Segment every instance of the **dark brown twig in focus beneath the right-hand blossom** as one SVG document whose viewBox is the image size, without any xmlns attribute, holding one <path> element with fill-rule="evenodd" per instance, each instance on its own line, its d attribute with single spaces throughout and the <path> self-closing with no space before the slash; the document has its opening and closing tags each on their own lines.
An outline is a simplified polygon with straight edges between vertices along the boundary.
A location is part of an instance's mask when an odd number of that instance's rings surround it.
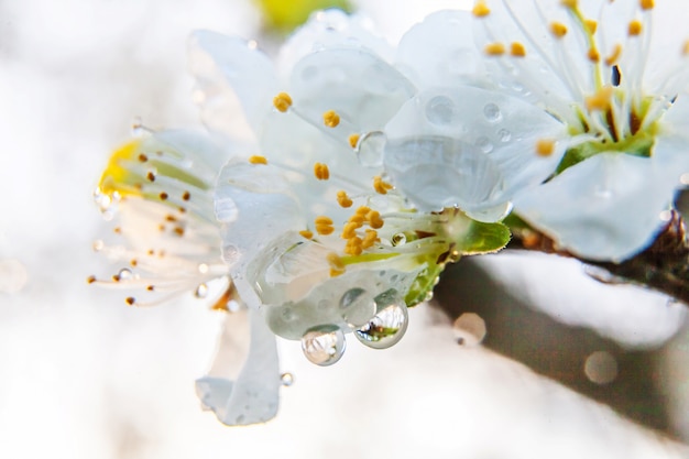
<svg viewBox="0 0 689 459">
<path fill-rule="evenodd" d="M 508 249 L 536 250 L 577 258 L 558 250 L 547 236 L 531 228 L 513 227 Z M 620 263 L 579 259 L 605 270 L 611 280 L 630 282 L 672 296 L 689 305 L 689 238 L 681 215 L 672 210 L 670 220 L 656 240 L 643 252 Z M 601 280 L 599 276 L 594 276 Z"/>
</svg>

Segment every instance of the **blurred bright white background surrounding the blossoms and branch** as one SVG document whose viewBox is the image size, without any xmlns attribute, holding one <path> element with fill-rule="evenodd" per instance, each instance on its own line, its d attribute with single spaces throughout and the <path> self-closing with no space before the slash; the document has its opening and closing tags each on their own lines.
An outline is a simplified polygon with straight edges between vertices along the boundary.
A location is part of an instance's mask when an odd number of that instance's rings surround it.
<svg viewBox="0 0 689 459">
<path fill-rule="evenodd" d="M 395 41 L 425 12 L 467 2 L 417 3 L 361 7 Z M 194 380 L 210 363 L 220 317 L 190 295 L 135 309 L 88 286 L 89 274 L 109 271 L 90 250 L 109 231 L 91 192 L 134 117 L 198 125 L 192 30 L 255 37 L 259 25 L 242 0 L 0 0 L 0 457 L 689 457 L 520 363 L 457 346 L 450 321 L 426 306 L 393 349 L 351 340 L 331 368 L 283 342 L 295 383 L 266 425 L 227 428 L 200 411 Z M 544 282 L 550 265 L 505 260 L 485 264 L 511 288 L 535 285 L 527 302 L 621 342 L 660 346 L 683 323 L 683 307 L 635 289 L 611 295 L 579 266 L 564 267 L 581 281 L 561 289 Z M 668 349 L 669 368 L 686 368 L 687 345 Z M 689 436 L 688 375 L 668 374 L 676 429 L 683 422 Z"/>
</svg>

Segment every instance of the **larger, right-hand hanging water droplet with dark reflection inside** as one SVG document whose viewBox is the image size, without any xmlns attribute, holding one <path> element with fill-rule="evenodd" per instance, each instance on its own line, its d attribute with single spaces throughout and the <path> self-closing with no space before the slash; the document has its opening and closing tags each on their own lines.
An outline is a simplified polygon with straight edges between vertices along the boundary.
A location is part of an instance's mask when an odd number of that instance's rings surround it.
<svg viewBox="0 0 689 459">
<path fill-rule="evenodd" d="M 404 336 L 408 325 L 408 313 L 404 299 L 396 291 L 375 297 L 378 314 L 367 325 L 354 331 L 354 336 L 373 349 L 387 349 Z"/>
</svg>

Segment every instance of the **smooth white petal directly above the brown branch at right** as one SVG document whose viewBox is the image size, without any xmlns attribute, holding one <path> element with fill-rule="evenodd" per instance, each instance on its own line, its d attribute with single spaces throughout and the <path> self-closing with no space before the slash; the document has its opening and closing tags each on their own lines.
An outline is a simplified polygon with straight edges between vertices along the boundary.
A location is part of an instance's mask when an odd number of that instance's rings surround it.
<svg viewBox="0 0 689 459">
<path fill-rule="evenodd" d="M 576 255 L 623 261 L 653 241 L 674 187 L 652 159 L 602 153 L 518 195 L 515 211 Z"/>
</svg>

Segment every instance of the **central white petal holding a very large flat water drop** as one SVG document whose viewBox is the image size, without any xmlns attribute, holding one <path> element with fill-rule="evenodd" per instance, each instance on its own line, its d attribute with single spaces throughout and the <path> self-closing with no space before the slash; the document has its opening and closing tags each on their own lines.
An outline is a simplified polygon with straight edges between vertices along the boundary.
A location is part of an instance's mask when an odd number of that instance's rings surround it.
<svg viewBox="0 0 689 459">
<path fill-rule="evenodd" d="M 459 205 L 481 220 L 500 218 L 481 212 L 504 210 L 514 193 L 543 182 L 566 147 L 565 127 L 548 113 L 468 86 L 419 94 L 385 132 L 385 171 L 415 206 Z M 547 156 L 537 154 L 544 141 L 553 146 Z"/>
</svg>

